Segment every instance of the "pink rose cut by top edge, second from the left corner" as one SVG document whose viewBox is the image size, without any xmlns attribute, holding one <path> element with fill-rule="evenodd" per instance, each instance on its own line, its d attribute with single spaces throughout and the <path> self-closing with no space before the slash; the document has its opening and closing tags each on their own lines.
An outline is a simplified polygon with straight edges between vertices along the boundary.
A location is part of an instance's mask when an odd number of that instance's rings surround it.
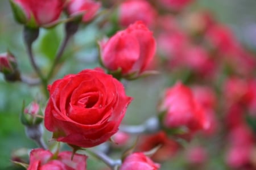
<svg viewBox="0 0 256 170">
<path fill-rule="evenodd" d="M 100 2 L 93 0 L 71 0 L 67 5 L 68 15 L 76 15 L 84 12 L 82 22 L 89 22 L 97 14 L 101 7 Z"/>
</svg>

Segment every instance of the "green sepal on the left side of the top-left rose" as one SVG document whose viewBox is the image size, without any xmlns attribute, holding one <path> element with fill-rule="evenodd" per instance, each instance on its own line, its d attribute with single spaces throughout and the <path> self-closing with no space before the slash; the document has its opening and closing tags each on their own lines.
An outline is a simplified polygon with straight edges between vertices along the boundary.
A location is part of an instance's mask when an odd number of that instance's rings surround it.
<svg viewBox="0 0 256 170">
<path fill-rule="evenodd" d="M 27 22 L 27 16 L 22 7 L 16 4 L 13 0 L 10 0 L 11 9 L 13 10 L 14 18 L 17 22 L 25 24 Z"/>
</svg>

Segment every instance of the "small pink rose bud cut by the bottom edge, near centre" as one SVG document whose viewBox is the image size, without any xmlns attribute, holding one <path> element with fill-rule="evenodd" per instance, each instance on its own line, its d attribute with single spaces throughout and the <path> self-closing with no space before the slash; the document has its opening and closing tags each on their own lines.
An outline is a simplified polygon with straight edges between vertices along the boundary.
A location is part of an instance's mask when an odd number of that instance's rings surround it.
<svg viewBox="0 0 256 170">
<path fill-rule="evenodd" d="M 157 170 L 160 165 L 152 162 L 142 152 L 133 153 L 125 158 L 119 170 L 152 169 Z"/>
</svg>

